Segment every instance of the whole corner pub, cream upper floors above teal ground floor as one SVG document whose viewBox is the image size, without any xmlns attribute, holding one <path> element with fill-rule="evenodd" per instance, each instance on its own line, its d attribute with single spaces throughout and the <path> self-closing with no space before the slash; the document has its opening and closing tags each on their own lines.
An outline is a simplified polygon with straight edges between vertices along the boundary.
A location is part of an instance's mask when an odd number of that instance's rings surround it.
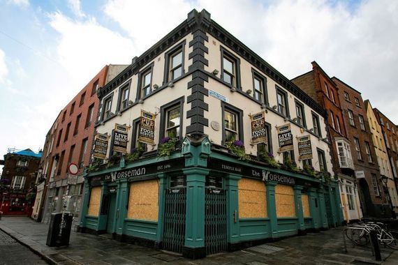
<svg viewBox="0 0 398 265">
<path fill-rule="evenodd" d="M 343 221 L 325 110 L 206 10 L 98 98 L 81 232 L 199 258 Z"/>
</svg>

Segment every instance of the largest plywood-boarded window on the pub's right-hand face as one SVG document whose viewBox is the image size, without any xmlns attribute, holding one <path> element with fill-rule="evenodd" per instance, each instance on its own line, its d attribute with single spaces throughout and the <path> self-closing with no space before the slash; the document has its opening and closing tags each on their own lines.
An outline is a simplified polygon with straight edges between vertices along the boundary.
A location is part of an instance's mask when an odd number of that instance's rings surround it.
<svg viewBox="0 0 398 265">
<path fill-rule="evenodd" d="M 238 184 L 239 218 L 266 218 L 265 184 L 255 179 L 241 179 Z"/>
</svg>

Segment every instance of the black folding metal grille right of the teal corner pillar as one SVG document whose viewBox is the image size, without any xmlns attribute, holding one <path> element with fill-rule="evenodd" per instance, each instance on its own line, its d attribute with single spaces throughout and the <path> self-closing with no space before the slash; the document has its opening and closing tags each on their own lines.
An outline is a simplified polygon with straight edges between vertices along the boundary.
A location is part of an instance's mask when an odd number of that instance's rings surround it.
<svg viewBox="0 0 398 265">
<path fill-rule="evenodd" d="M 205 246 L 206 255 L 227 250 L 226 191 L 206 188 Z"/>
</svg>

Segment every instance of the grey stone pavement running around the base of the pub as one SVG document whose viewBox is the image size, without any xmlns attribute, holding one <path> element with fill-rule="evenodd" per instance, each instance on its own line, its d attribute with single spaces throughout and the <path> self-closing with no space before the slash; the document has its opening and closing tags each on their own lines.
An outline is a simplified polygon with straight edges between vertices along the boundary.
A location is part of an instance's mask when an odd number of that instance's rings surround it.
<svg viewBox="0 0 398 265">
<path fill-rule="evenodd" d="M 94 236 L 78 232 L 71 232 L 68 247 L 50 248 L 45 245 L 48 225 L 27 217 L 3 216 L 0 220 L 0 230 L 26 245 L 49 264 L 398 264 L 398 250 L 381 247 L 382 262 L 374 260 L 369 247 L 354 248 L 348 241 L 348 251 L 345 252 L 343 229 L 338 227 L 306 236 L 293 236 L 191 260 L 175 253 L 121 243 L 110 239 L 109 235 Z M 10 254 L 0 252 L 0 264 L 7 255 Z M 29 262 L 21 259 L 20 263 L 35 264 L 34 259 L 29 259 Z"/>
</svg>

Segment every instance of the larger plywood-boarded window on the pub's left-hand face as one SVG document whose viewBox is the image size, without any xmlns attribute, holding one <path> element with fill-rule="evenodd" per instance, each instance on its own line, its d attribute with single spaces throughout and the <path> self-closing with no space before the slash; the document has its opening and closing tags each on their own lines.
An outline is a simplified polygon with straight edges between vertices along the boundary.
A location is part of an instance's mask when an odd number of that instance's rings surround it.
<svg viewBox="0 0 398 265">
<path fill-rule="evenodd" d="M 159 185 L 156 179 L 131 183 L 127 218 L 157 221 L 158 199 Z"/>
</svg>

